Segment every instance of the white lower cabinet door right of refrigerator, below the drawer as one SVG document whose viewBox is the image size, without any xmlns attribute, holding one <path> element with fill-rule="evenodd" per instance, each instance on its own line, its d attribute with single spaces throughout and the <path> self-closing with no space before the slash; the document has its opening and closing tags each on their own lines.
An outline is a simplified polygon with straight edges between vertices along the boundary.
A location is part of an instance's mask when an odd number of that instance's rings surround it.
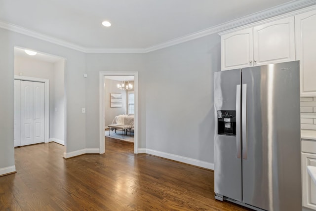
<svg viewBox="0 0 316 211">
<path fill-rule="evenodd" d="M 316 210 L 316 184 L 307 172 L 307 166 L 316 167 L 316 154 L 302 153 L 303 206 Z"/>
</svg>

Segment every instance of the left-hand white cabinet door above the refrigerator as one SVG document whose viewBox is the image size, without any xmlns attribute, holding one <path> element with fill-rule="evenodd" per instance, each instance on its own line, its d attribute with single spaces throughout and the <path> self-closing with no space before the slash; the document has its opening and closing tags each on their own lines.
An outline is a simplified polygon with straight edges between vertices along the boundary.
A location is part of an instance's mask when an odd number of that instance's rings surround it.
<svg viewBox="0 0 316 211">
<path fill-rule="evenodd" d="M 252 66 L 252 28 L 221 36 L 221 70 Z"/>
</svg>

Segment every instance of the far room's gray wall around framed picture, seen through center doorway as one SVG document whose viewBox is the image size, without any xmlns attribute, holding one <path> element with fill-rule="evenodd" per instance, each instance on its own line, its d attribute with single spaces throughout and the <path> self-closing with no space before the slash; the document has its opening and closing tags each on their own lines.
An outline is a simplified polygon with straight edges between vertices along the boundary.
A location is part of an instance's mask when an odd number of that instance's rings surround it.
<svg viewBox="0 0 316 211">
<path fill-rule="evenodd" d="M 119 82 L 111 79 L 105 79 L 105 126 L 111 125 L 115 116 L 120 114 L 127 114 L 127 91 L 118 88 Z M 122 107 L 111 108 L 110 93 L 121 93 L 122 94 Z"/>
</svg>

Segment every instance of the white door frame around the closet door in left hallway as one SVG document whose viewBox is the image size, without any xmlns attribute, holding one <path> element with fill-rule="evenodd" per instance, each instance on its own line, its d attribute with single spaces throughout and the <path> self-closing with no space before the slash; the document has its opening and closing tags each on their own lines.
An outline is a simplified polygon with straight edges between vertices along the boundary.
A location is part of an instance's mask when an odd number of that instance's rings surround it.
<svg viewBox="0 0 316 211">
<path fill-rule="evenodd" d="M 49 142 L 49 80 L 33 78 L 28 76 L 14 75 L 14 80 L 43 82 L 45 84 L 45 143 Z"/>
</svg>

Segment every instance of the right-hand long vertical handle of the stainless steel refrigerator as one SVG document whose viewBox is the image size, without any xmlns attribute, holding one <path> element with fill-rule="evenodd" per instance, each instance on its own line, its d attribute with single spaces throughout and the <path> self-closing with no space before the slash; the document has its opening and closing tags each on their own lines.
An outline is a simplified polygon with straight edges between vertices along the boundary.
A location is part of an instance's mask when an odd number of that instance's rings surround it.
<svg viewBox="0 0 316 211">
<path fill-rule="evenodd" d="M 242 84 L 241 90 L 242 158 L 247 159 L 247 84 Z"/>
</svg>

